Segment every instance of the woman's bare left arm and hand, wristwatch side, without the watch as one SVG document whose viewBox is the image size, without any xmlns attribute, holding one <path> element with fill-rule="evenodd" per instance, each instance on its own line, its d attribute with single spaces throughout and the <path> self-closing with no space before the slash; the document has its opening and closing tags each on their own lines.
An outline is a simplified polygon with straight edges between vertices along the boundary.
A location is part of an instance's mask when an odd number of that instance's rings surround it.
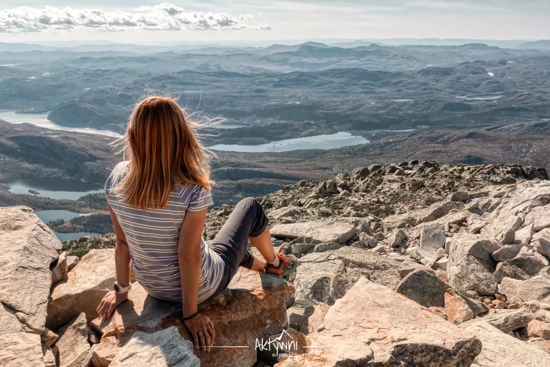
<svg viewBox="0 0 550 367">
<path fill-rule="evenodd" d="M 114 233 L 117 235 L 117 244 L 114 248 L 114 267 L 117 273 L 117 282 L 123 287 L 127 287 L 130 284 L 130 251 L 128 250 L 126 235 L 117 220 L 117 215 L 109 204 L 107 204 L 107 206 L 109 207 L 109 212 L 111 212 Z M 103 297 L 100 305 L 97 306 L 97 313 L 104 319 L 109 319 L 117 306 L 123 303 L 127 298 L 128 293 L 115 293 L 111 291 Z"/>
</svg>

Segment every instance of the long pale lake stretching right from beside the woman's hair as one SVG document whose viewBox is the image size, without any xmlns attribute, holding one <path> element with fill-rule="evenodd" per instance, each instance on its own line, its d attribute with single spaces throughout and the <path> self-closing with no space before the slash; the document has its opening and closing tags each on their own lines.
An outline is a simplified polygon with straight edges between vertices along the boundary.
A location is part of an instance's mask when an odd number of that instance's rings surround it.
<svg viewBox="0 0 550 367">
<path fill-rule="evenodd" d="M 286 152 L 299 149 L 335 149 L 348 145 L 368 144 L 370 141 L 362 136 L 348 132 L 339 132 L 330 135 L 305 136 L 277 140 L 272 143 L 245 145 L 245 144 L 215 144 L 208 146 L 210 150 L 237 151 L 237 152 Z"/>
</svg>

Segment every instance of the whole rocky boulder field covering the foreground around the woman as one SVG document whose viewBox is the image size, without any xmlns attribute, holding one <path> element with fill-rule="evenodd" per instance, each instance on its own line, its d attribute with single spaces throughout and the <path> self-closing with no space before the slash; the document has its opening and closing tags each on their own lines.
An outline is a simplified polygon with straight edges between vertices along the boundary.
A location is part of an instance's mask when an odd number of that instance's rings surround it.
<svg viewBox="0 0 550 367">
<path fill-rule="evenodd" d="M 240 269 L 202 303 L 211 352 L 179 303 L 135 281 L 98 317 L 113 234 L 61 244 L 28 207 L 0 208 L 0 365 L 550 367 L 544 169 L 410 161 L 258 199 L 299 266 L 286 280 Z M 232 210 L 208 212 L 207 240 Z"/>
</svg>

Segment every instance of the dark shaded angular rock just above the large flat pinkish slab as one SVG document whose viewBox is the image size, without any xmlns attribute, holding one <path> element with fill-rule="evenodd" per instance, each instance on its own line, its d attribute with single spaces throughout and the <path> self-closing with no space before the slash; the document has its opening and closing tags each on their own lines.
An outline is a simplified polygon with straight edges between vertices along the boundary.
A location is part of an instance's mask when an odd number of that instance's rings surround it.
<svg viewBox="0 0 550 367">
<path fill-rule="evenodd" d="M 406 295 L 425 307 L 444 307 L 445 292 L 449 288 L 433 272 L 417 269 L 403 278 L 395 287 L 395 292 Z"/>
</svg>

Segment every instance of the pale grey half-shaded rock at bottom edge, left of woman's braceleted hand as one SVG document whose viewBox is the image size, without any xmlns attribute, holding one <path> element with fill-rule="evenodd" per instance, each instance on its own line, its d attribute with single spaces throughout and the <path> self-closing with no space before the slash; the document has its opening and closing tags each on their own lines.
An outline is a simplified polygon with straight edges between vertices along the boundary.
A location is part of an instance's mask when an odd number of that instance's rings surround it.
<svg viewBox="0 0 550 367">
<path fill-rule="evenodd" d="M 177 327 L 171 326 L 153 333 L 135 332 L 109 366 L 138 365 L 200 367 L 200 360 L 193 354 L 193 343 L 182 338 Z"/>
</svg>

